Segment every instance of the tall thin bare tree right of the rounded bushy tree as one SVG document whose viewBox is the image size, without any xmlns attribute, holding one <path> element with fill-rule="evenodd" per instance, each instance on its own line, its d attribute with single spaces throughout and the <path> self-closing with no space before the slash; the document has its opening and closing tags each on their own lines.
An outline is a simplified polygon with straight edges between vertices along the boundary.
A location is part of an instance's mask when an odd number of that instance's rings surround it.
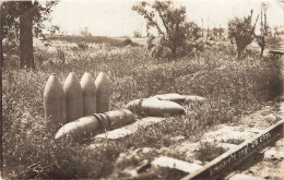
<svg viewBox="0 0 284 180">
<path fill-rule="evenodd" d="M 268 24 L 268 4 L 261 2 L 261 12 L 260 12 L 260 35 L 256 35 L 258 45 L 260 46 L 260 57 L 262 58 L 263 51 L 265 48 L 265 36 L 269 33 L 269 24 Z"/>
</svg>

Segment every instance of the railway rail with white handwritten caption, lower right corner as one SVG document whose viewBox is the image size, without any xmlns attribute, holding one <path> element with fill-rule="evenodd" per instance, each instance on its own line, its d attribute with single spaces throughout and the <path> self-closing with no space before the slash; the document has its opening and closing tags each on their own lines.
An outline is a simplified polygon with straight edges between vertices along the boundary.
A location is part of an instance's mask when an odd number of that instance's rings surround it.
<svg viewBox="0 0 284 180">
<path fill-rule="evenodd" d="M 230 149 L 218 156 L 217 158 L 213 159 L 194 173 L 184 177 L 182 180 L 211 179 L 211 177 L 214 177 L 222 170 L 235 167 L 247 157 L 258 152 L 260 147 L 265 146 L 270 142 L 274 141 L 276 137 L 281 136 L 283 134 L 283 123 L 284 120 L 279 121 L 276 124 L 270 127 L 261 134 L 258 134 L 256 137 L 241 143 L 237 146 L 237 148 Z"/>
</svg>

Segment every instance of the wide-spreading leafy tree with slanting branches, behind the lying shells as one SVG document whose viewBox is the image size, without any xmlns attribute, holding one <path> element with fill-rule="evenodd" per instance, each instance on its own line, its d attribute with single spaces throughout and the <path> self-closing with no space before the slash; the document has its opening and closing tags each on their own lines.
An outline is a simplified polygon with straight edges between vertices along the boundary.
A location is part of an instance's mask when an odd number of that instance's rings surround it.
<svg viewBox="0 0 284 180">
<path fill-rule="evenodd" d="M 147 26 L 155 28 L 164 38 L 163 46 L 170 49 L 173 58 L 187 40 L 200 37 L 197 33 L 200 28 L 186 20 L 186 8 L 175 8 L 173 1 L 155 1 L 152 4 L 139 2 L 132 10 L 142 15 Z"/>
</svg>

